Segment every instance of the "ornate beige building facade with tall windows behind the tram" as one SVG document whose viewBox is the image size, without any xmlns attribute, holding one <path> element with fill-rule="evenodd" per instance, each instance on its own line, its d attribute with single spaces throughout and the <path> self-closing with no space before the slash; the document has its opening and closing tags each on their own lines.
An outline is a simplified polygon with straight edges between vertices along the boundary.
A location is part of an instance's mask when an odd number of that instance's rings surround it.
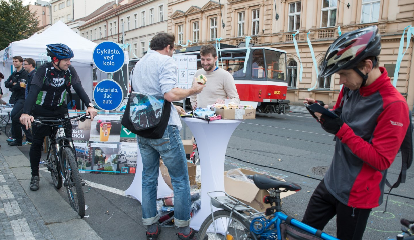
<svg viewBox="0 0 414 240">
<path fill-rule="evenodd" d="M 377 25 L 381 34 L 381 67 L 395 66 L 401 36 L 405 27 L 414 25 L 412 0 L 350 0 L 349 5 L 336 0 L 169 0 L 167 31 L 176 42 L 192 46 L 215 43 L 238 45 L 246 36 L 255 46 L 274 47 L 287 52 L 287 99 L 300 104 L 307 98 L 323 100 L 330 105 L 337 100 L 339 77 L 318 78 L 313 64 L 307 34 L 312 43 L 317 67 L 330 44 L 341 32 Z M 224 24 L 224 26 L 223 26 Z M 298 34 L 293 36 L 296 31 Z M 293 43 L 295 37 L 300 59 Z M 406 35 L 405 35 L 406 37 Z M 405 39 L 406 42 L 406 39 Z M 413 38 L 401 62 L 396 88 L 414 105 Z M 178 46 L 180 47 L 180 46 Z M 405 45 L 404 45 L 405 49 Z M 299 81 L 300 62 L 303 76 Z M 393 72 L 389 75 L 393 76 Z M 413 78 L 412 80 L 410 78 Z M 393 80 L 393 77 L 391 77 Z M 411 84 L 410 84 L 411 83 Z M 308 88 L 315 87 L 308 91 Z"/>
</svg>

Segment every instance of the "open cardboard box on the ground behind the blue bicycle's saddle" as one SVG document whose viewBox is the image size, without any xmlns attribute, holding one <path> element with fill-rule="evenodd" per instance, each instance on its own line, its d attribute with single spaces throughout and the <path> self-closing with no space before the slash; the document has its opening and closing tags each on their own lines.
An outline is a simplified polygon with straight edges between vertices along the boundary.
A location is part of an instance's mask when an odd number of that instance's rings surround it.
<svg viewBox="0 0 414 240">
<path fill-rule="evenodd" d="M 255 171 L 242 168 L 240 168 L 240 171 L 246 175 L 260 174 Z M 237 198 L 241 202 L 248 204 L 249 206 L 253 207 L 254 209 L 260 212 L 264 212 L 266 208 L 270 207 L 270 204 L 263 203 L 263 197 L 269 195 L 269 192 L 267 190 L 259 189 L 258 187 L 256 187 L 254 183 L 248 183 L 227 177 L 227 172 L 228 171 L 224 172 L 224 190 L 227 194 Z M 284 179 L 279 178 L 278 180 L 285 181 Z M 280 198 L 284 198 L 294 193 L 296 192 L 282 192 L 280 193 Z"/>
</svg>

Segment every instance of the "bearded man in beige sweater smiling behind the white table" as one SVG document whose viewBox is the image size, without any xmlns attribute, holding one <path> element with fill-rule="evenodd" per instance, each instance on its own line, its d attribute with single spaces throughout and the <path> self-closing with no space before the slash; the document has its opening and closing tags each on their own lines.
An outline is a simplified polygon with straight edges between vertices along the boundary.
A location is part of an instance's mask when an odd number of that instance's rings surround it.
<svg viewBox="0 0 414 240">
<path fill-rule="evenodd" d="M 216 66 L 217 52 L 213 45 L 204 45 L 200 49 L 201 65 L 203 68 L 197 70 L 196 76 L 203 74 L 207 77 L 206 87 L 203 92 L 190 96 L 193 109 L 205 108 L 214 103 L 224 103 L 230 99 L 235 104 L 240 103 L 236 84 L 233 76 L 226 70 Z M 198 84 L 194 82 L 193 84 Z"/>
</svg>

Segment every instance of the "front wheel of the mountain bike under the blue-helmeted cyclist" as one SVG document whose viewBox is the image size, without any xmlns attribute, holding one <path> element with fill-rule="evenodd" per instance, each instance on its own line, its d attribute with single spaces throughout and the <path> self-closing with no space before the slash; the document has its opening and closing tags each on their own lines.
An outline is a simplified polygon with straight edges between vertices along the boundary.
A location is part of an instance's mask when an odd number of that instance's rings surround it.
<svg viewBox="0 0 414 240">
<path fill-rule="evenodd" d="M 75 155 L 69 147 L 63 148 L 62 161 L 65 169 L 64 174 L 66 178 L 67 195 L 69 196 L 69 203 L 72 208 L 79 214 L 80 217 L 85 216 L 85 199 L 84 189 L 80 180 L 80 174 L 76 163 Z"/>
</svg>

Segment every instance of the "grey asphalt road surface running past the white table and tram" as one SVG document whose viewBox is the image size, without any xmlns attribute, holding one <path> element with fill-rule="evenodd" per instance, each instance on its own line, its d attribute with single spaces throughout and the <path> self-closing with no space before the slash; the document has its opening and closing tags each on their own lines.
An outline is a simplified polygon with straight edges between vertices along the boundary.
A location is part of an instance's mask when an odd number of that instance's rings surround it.
<svg viewBox="0 0 414 240">
<path fill-rule="evenodd" d="M 191 137 L 189 128 L 186 135 L 187 139 Z M 323 177 L 312 170 L 316 168 L 323 172 L 330 165 L 334 147 L 333 135 L 323 131 L 319 123 L 308 114 L 258 114 L 256 119 L 244 121 L 234 131 L 226 152 L 225 170 L 250 167 L 257 172 L 268 172 L 299 184 L 302 190 L 283 198 L 282 209 L 301 220 L 311 194 Z M 29 147 L 23 146 L 20 149 L 28 157 Z M 401 158 L 397 156 L 388 171 L 390 182 L 397 179 L 400 167 Z M 46 173 L 43 175 L 47 178 L 50 176 Z M 133 180 L 133 175 L 81 175 L 84 180 L 122 191 Z M 395 239 L 396 234 L 401 232 L 400 219 L 414 219 L 414 194 L 411 190 L 413 176 L 414 168 L 411 168 L 406 183 L 392 191 L 403 197 L 389 196 L 386 213 L 383 213 L 385 200 L 384 204 L 372 210 L 364 239 Z M 51 183 L 50 178 L 45 180 Z M 45 182 L 42 184 L 45 187 Z M 116 191 L 113 189 L 106 191 L 84 187 L 88 205 L 86 215 L 89 216 L 84 220 L 102 239 L 145 239 L 141 204 L 135 199 L 114 193 Z M 67 201 L 65 189 L 58 191 Z M 330 221 L 324 229 L 334 236 L 335 220 Z M 162 228 L 158 239 L 176 239 L 176 231 L 174 228 Z"/>
</svg>

